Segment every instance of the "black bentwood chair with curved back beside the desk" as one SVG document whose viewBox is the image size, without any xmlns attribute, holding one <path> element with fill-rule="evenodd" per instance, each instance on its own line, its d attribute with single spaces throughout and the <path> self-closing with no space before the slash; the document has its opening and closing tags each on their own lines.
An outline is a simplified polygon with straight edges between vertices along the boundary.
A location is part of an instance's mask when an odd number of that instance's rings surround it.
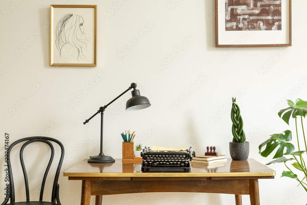
<svg viewBox="0 0 307 205">
<path fill-rule="evenodd" d="M 18 144 L 20 142 L 24 142 L 24 141 L 26 141 L 26 142 L 22 145 L 22 147 L 20 149 L 20 163 L 21 163 L 23 175 L 25 177 L 26 201 L 25 202 L 15 202 L 14 181 L 13 181 L 12 169 L 11 169 L 11 164 L 10 164 L 10 151 L 16 144 Z M 54 181 L 53 181 L 51 202 L 45 202 L 45 201 L 43 201 L 44 187 L 45 187 L 47 174 L 48 174 L 48 171 L 49 171 L 49 168 L 51 166 L 53 156 L 54 156 L 54 148 L 49 141 L 53 141 L 60 146 L 61 157 L 60 157 L 60 161 L 59 161 L 59 164 L 57 166 L 56 174 L 55 174 Z M 25 149 L 25 147 L 28 144 L 33 143 L 33 142 L 44 142 L 44 143 L 48 144 L 50 149 L 51 149 L 50 160 L 49 160 L 49 163 L 47 165 L 47 168 L 46 168 L 46 171 L 45 171 L 45 174 L 44 174 L 44 177 L 43 177 L 43 181 L 41 183 L 41 192 L 40 192 L 39 201 L 30 201 L 28 176 L 27 176 L 27 172 L 25 170 L 25 164 L 24 164 L 24 161 L 23 161 L 23 150 Z M 63 146 L 62 143 L 60 143 L 59 140 L 56 140 L 56 139 L 53 139 L 53 138 L 50 138 L 50 137 L 26 137 L 26 138 L 17 140 L 14 143 L 12 143 L 10 145 L 9 149 L 8 149 L 8 153 L 6 152 L 6 154 L 8 154 L 8 158 L 9 158 L 9 160 L 7 161 L 7 167 L 9 168 L 10 183 L 9 183 L 8 193 L 6 195 L 6 198 L 1 205 L 8 203 L 9 199 L 10 199 L 11 205 L 21 205 L 21 204 L 22 205 L 55 205 L 55 204 L 61 205 L 60 199 L 59 199 L 59 184 L 57 182 L 58 182 L 58 179 L 59 179 L 60 169 L 61 169 L 63 158 L 64 158 L 64 146 Z"/>
</svg>

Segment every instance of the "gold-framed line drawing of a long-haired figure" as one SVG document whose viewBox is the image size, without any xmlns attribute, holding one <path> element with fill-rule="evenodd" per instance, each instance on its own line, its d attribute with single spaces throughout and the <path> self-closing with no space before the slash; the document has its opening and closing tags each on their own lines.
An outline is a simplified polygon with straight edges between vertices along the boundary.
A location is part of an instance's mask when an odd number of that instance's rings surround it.
<svg viewBox="0 0 307 205">
<path fill-rule="evenodd" d="M 50 65 L 97 66 L 97 5 L 50 5 Z"/>
</svg>

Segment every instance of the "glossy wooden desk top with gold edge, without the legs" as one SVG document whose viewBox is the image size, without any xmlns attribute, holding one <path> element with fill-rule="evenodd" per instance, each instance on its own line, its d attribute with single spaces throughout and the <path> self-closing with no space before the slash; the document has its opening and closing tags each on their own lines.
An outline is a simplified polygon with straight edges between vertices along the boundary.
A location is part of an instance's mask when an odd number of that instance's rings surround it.
<svg viewBox="0 0 307 205">
<path fill-rule="evenodd" d="M 232 161 L 225 164 L 207 166 L 191 163 L 191 172 L 142 172 L 141 161 L 122 161 L 111 163 L 88 163 L 87 159 L 64 171 L 64 176 L 77 177 L 234 177 L 234 176 L 274 176 L 275 171 L 254 159 Z"/>
</svg>

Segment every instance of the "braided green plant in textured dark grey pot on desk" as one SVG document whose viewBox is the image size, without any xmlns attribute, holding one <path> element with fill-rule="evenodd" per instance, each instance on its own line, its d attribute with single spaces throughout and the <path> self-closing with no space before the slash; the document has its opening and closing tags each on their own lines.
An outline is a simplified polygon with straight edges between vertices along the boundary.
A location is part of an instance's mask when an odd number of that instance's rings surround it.
<svg viewBox="0 0 307 205">
<path fill-rule="evenodd" d="M 232 121 L 232 142 L 229 142 L 229 152 L 232 160 L 247 160 L 249 155 L 249 142 L 246 142 L 245 133 L 243 131 L 243 120 L 240 114 L 240 108 L 232 98 L 231 107 Z"/>
</svg>

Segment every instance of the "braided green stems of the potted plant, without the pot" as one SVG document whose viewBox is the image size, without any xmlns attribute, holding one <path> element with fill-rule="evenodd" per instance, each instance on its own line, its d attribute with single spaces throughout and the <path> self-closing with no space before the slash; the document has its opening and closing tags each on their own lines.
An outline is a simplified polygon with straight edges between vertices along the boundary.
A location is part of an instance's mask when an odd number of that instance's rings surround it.
<svg viewBox="0 0 307 205">
<path fill-rule="evenodd" d="M 231 121 L 231 132 L 233 135 L 232 142 L 246 142 L 245 133 L 243 131 L 243 120 L 240 115 L 240 108 L 235 102 L 234 98 L 232 98 Z"/>
</svg>

